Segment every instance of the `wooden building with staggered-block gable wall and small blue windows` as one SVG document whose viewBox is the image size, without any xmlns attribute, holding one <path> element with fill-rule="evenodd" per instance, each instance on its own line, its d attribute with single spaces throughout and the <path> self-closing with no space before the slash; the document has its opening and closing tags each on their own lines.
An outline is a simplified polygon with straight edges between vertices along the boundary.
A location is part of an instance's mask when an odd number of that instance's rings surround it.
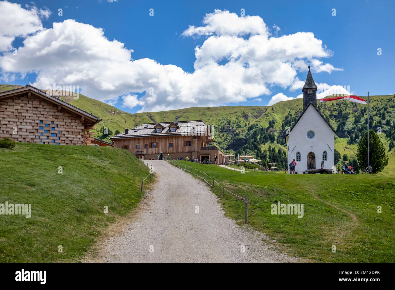
<svg viewBox="0 0 395 290">
<path fill-rule="evenodd" d="M 0 93 L 0 138 L 53 145 L 94 145 L 101 120 L 33 86 Z"/>
</svg>

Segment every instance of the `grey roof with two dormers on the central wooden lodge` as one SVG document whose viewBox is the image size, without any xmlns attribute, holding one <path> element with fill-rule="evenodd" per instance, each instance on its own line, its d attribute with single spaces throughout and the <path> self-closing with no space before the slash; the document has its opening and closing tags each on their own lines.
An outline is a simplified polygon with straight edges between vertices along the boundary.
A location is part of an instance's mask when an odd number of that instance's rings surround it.
<svg viewBox="0 0 395 290">
<path fill-rule="evenodd" d="M 162 125 L 164 129 L 162 132 L 156 132 L 155 127 L 158 124 Z M 176 127 L 175 132 L 170 131 L 170 127 Z M 182 121 L 178 122 L 178 127 L 174 122 L 165 122 L 165 123 L 145 123 L 143 125 L 139 125 L 134 127 L 133 129 L 128 130 L 128 133 L 122 132 L 111 137 L 111 140 L 120 139 L 120 138 L 135 138 L 135 137 L 162 137 L 162 136 L 170 136 L 170 135 L 203 135 L 207 129 L 207 124 L 202 120 L 197 121 Z"/>
</svg>

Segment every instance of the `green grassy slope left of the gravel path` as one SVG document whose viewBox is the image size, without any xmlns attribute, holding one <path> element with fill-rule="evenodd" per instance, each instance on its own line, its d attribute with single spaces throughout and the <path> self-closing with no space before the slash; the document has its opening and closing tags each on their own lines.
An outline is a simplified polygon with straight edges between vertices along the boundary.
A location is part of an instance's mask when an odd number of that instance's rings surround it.
<svg viewBox="0 0 395 290">
<path fill-rule="evenodd" d="M 0 160 L 0 203 L 32 205 L 30 218 L 0 216 L 0 262 L 78 260 L 135 208 L 149 174 L 130 152 L 110 147 L 17 143 L 0 148 Z"/>
</svg>

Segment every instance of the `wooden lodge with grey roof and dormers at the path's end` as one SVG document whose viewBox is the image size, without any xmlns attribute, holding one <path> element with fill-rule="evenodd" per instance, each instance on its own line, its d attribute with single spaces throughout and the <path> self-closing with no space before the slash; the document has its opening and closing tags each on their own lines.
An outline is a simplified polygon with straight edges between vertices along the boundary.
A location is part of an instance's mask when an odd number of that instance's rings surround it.
<svg viewBox="0 0 395 290">
<path fill-rule="evenodd" d="M 216 146 L 207 146 L 212 138 L 210 127 L 202 120 L 179 122 L 176 118 L 175 122 L 147 123 L 125 129 L 110 139 L 115 147 L 129 150 L 141 159 L 156 160 L 163 152 L 164 159 L 170 154 L 175 159 L 188 156 L 190 160 L 193 157 L 214 160 L 216 154 L 216 163 L 224 164 L 226 154 Z"/>
</svg>

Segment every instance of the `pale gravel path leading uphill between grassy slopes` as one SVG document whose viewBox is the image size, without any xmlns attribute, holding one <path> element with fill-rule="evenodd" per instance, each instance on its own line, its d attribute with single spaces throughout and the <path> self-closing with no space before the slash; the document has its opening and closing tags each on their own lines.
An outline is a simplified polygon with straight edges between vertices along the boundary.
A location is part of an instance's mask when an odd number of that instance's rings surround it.
<svg viewBox="0 0 395 290">
<path fill-rule="evenodd" d="M 297 262 L 225 217 L 204 181 L 167 161 L 145 162 L 156 172 L 153 190 L 122 230 L 98 245 L 93 262 Z"/>
</svg>

